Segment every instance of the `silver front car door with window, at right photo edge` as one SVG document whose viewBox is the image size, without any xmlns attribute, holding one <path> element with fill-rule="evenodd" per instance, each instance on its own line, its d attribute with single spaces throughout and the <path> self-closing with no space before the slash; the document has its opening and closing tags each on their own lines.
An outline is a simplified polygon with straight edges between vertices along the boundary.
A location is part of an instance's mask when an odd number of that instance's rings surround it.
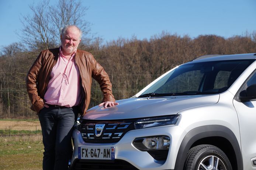
<svg viewBox="0 0 256 170">
<path fill-rule="evenodd" d="M 237 95 L 245 92 L 245 89 L 252 84 L 256 84 L 256 71 L 246 80 Z M 239 119 L 243 169 L 256 169 L 256 100 L 241 102 L 235 98 L 233 105 Z"/>
</svg>

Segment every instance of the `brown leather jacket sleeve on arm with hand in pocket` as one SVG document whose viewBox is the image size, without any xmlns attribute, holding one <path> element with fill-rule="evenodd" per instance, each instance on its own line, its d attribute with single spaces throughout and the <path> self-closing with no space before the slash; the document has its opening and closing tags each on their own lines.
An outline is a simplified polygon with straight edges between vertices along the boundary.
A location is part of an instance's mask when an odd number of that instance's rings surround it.
<svg viewBox="0 0 256 170">
<path fill-rule="evenodd" d="M 44 107 L 44 101 L 38 95 L 38 91 L 37 91 L 38 75 L 42 66 L 41 62 L 42 62 L 42 52 L 39 54 L 34 64 L 31 66 L 26 77 L 28 97 L 30 98 L 32 103 L 31 109 L 33 111 L 36 111 L 37 113 Z"/>
</svg>

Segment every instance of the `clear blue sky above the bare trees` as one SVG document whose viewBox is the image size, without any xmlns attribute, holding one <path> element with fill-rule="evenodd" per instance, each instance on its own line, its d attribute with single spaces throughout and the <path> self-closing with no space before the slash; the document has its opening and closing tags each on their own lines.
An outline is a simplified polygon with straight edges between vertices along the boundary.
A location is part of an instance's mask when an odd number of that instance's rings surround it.
<svg viewBox="0 0 256 170">
<path fill-rule="evenodd" d="M 55 4 L 58 0 L 50 0 Z M 0 0 L 0 46 L 22 42 L 21 15 L 37 0 Z M 162 31 L 225 38 L 256 31 L 256 0 L 82 0 L 89 7 L 91 33 L 104 41 L 136 36 L 150 39 Z"/>
</svg>

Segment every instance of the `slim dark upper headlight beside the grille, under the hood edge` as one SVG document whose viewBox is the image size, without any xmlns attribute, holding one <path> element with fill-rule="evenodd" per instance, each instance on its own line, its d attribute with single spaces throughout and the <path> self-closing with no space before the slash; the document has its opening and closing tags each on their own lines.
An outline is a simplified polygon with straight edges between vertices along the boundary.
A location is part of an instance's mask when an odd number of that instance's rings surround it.
<svg viewBox="0 0 256 170">
<path fill-rule="evenodd" d="M 176 124 L 179 117 L 179 114 L 175 114 L 169 116 L 142 118 L 135 122 L 135 129 Z"/>
</svg>

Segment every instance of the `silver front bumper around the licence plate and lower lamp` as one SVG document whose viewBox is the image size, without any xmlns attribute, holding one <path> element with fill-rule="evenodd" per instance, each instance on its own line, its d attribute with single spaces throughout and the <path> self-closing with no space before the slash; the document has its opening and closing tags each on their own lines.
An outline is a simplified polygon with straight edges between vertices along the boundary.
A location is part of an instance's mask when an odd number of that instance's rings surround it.
<svg viewBox="0 0 256 170">
<path fill-rule="evenodd" d="M 159 161 L 153 159 L 148 152 L 143 152 L 135 148 L 132 144 L 135 138 L 166 135 L 170 137 L 170 149 L 166 161 Z M 152 128 L 144 128 L 138 130 L 131 130 L 127 132 L 124 137 L 117 143 L 86 143 L 83 141 L 80 131 L 74 130 L 72 137 L 74 139 L 74 152 L 71 160 L 71 168 L 78 159 L 79 146 L 111 146 L 115 147 L 115 160 L 124 160 L 140 170 L 167 170 L 174 169 L 177 153 L 182 139 L 186 132 L 177 125 L 166 125 Z M 83 162 L 84 160 L 81 160 Z M 95 162 L 95 160 L 94 160 Z M 100 164 L 102 161 L 97 160 Z M 104 161 L 106 162 L 106 161 Z"/>
</svg>

